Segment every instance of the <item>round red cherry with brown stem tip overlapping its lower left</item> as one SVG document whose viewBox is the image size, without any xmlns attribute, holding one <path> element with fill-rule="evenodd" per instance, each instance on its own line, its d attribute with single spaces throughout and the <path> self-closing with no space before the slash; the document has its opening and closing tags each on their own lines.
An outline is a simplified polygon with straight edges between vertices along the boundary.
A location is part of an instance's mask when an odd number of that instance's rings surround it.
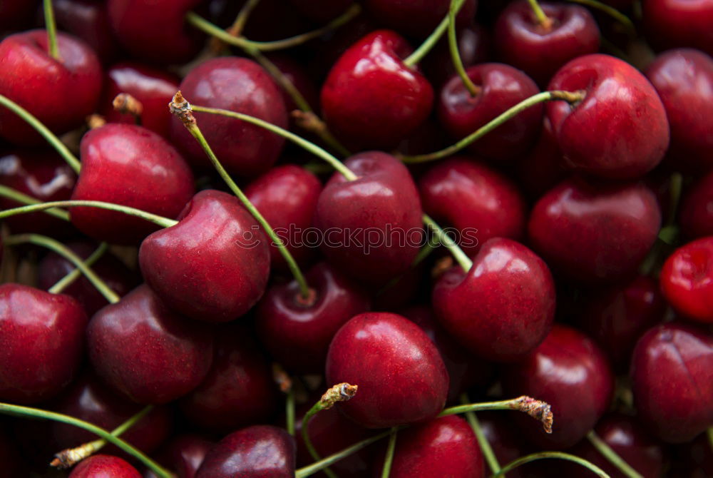
<svg viewBox="0 0 713 478">
<path fill-rule="evenodd" d="M 327 354 L 327 383 L 359 385 L 339 402 L 347 417 L 366 428 L 424 422 L 443 409 L 448 372 L 421 328 L 401 315 L 366 312 L 334 335 Z"/>
</svg>

